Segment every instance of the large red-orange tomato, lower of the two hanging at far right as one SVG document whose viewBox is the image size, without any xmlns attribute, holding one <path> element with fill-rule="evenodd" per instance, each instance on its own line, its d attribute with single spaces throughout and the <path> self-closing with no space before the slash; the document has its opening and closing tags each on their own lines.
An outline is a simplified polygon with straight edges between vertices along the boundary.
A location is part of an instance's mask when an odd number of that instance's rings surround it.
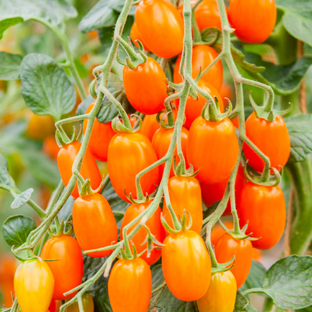
<svg viewBox="0 0 312 312">
<path fill-rule="evenodd" d="M 246 234 L 252 232 L 252 246 L 270 249 L 280 240 L 286 224 L 285 199 L 280 187 L 245 184 L 237 208 L 241 227 L 248 222 Z"/>
</svg>

